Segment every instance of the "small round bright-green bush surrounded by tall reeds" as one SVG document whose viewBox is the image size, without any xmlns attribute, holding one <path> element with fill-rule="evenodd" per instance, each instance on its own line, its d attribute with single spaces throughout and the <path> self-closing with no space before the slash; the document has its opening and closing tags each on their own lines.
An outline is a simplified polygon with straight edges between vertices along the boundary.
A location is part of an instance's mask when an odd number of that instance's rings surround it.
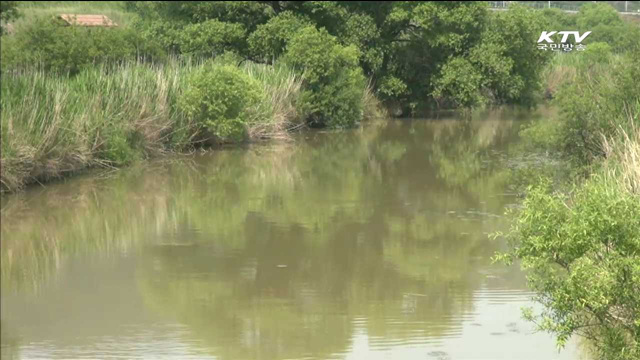
<svg viewBox="0 0 640 360">
<path fill-rule="evenodd" d="M 209 62 L 189 76 L 178 106 L 217 141 L 241 141 L 247 123 L 266 116 L 255 111 L 264 96 L 261 84 L 242 70 Z"/>
</svg>

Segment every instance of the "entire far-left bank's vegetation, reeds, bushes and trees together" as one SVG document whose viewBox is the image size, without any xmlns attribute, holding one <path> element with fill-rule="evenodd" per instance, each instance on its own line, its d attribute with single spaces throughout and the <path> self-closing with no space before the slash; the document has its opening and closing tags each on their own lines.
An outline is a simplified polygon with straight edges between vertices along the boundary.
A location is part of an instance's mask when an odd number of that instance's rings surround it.
<svg viewBox="0 0 640 360">
<path fill-rule="evenodd" d="M 378 99 L 396 114 L 533 105 L 548 58 L 530 46 L 539 12 L 484 3 L 3 2 L 3 22 L 18 12 L 0 51 L 3 190 L 302 124 L 352 127 L 384 113 Z M 120 26 L 65 26 L 66 12 Z"/>
</svg>

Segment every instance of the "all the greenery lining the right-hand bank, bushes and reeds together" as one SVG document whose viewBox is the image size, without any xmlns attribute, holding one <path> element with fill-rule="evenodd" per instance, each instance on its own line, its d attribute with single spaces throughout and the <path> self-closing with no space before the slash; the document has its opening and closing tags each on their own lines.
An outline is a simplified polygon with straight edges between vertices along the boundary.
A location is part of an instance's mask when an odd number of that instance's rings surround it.
<svg viewBox="0 0 640 360">
<path fill-rule="evenodd" d="M 602 5 L 584 9 L 578 20 L 608 16 Z M 571 75 L 554 91 L 559 116 L 523 135 L 579 176 L 564 191 L 549 180 L 529 187 L 506 234 L 511 250 L 498 256 L 528 270 L 544 309 L 527 317 L 560 346 L 573 335 L 591 340 L 598 359 L 640 357 L 640 38 L 634 41 L 619 54 L 596 41 L 580 57 L 554 59 L 549 76 Z"/>
</svg>

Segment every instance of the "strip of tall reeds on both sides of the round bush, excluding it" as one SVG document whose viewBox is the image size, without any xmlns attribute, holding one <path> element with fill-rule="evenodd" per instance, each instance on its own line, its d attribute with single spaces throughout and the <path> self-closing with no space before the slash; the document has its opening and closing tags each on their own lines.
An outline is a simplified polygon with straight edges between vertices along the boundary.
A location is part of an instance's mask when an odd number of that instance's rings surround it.
<svg viewBox="0 0 640 360">
<path fill-rule="evenodd" d="M 178 104 L 188 74 L 204 66 L 224 64 L 173 60 L 94 67 L 75 77 L 42 71 L 3 75 L 2 190 L 94 166 L 125 165 L 199 142 L 226 142 L 185 116 Z M 253 106 L 264 114 L 242 122 L 242 140 L 286 137 L 301 121 L 295 107 L 301 78 L 284 66 L 244 64 L 238 70 L 261 87 Z"/>
</svg>

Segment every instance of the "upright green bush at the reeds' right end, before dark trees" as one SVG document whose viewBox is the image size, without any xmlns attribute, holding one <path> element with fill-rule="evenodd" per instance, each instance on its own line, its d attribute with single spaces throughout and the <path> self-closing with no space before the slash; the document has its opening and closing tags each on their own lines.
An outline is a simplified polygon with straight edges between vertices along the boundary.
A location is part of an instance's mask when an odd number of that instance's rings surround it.
<svg viewBox="0 0 640 360">
<path fill-rule="evenodd" d="M 312 124 L 341 128 L 362 119 L 366 82 L 358 55 L 324 29 L 306 27 L 291 39 L 284 62 L 304 73 L 300 106 Z"/>
</svg>

